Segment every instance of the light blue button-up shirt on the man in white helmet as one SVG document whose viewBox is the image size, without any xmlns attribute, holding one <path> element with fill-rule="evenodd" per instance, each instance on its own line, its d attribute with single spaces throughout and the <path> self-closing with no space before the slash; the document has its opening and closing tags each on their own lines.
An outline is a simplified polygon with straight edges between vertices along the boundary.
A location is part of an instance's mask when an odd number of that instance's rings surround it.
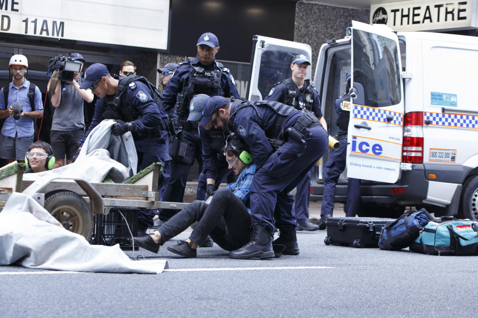
<svg viewBox="0 0 478 318">
<path fill-rule="evenodd" d="M 14 102 L 18 102 L 22 106 L 23 112 L 30 112 L 37 110 L 43 112 L 43 105 L 41 103 L 41 92 L 38 86 L 35 88 L 34 107 L 32 109 L 30 100 L 28 99 L 28 90 L 30 89 L 30 81 L 26 80 L 20 88 L 17 88 L 13 81 L 8 85 L 8 101 L 5 105 L 5 98 L 3 95 L 3 88 L 0 90 L 0 109 L 5 110 L 10 107 Z M 33 118 L 21 117 L 16 120 L 13 116 L 6 116 L 3 127 L 1 128 L 1 134 L 6 137 L 30 137 L 33 136 L 35 130 L 33 128 Z"/>
</svg>

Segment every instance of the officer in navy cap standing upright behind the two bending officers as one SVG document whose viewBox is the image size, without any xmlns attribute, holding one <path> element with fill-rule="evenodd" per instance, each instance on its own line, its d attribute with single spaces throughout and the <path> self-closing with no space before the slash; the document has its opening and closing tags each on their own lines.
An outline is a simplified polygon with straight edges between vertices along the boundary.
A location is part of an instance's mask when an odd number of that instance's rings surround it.
<svg viewBox="0 0 478 318">
<path fill-rule="evenodd" d="M 171 178 L 164 195 L 164 201 L 182 202 L 189 169 L 194 159 L 201 162 L 201 142 L 198 133 L 198 123 L 188 121 L 189 103 L 196 94 L 209 96 L 237 96 L 238 89 L 229 70 L 216 61 L 219 51 L 219 41 L 211 32 L 202 34 L 196 44 L 197 56 L 182 62 L 174 71 L 173 76 L 164 88 L 164 107 L 169 111 L 176 107 L 176 126 L 181 129 L 178 137 L 181 147 L 171 147 Z M 217 175 L 208 174 L 207 183 L 217 184 L 221 180 Z M 211 189 L 211 186 L 209 186 Z M 216 186 L 215 186 L 216 187 Z M 200 192 L 205 191 L 206 184 L 199 183 Z M 200 194 L 201 195 L 201 194 Z M 176 210 L 162 209 L 161 220 L 173 216 Z"/>
</svg>

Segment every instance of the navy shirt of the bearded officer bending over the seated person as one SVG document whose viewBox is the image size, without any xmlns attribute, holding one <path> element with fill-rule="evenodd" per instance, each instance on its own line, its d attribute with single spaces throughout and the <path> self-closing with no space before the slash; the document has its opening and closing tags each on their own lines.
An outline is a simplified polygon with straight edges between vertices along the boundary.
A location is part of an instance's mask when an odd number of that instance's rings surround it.
<svg viewBox="0 0 478 318">
<path fill-rule="evenodd" d="M 278 115 L 270 106 L 261 105 L 261 101 L 255 101 L 252 103 L 256 106 L 257 112 L 254 107 L 243 107 L 237 111 L 233 121 L 233 132 L 242 139 L 249 147 L 250 154 L 254 158 L 254 162 L 259 169 L 265 161 L 274 152 L 270 145 L 265 132 L 272 129 L 274 122 Z M 231 115 L 235 112 L 237 104 L 231 106 Z M 304 113 L 300 110 L 294 109 L 291 114 L 283 122 L 283 130 L 292 126 L 297 118 Z M 259 117 L 260 116 L 260 117 Z M 277 136 L 271 136 L 277 137 Z"/>
</svg>

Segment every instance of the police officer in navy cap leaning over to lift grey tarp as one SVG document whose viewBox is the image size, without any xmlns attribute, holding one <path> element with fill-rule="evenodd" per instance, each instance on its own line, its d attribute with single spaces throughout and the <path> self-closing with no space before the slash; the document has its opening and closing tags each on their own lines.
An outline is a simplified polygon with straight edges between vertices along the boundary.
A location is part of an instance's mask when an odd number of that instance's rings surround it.
<svg viewBox="0 0 478 318">
<path fill-rule="evenodd" d="M 117 123 L 112 126 L 114 135 L 120 136 L 127 131 L 133 135 L 138 155 L 138 171 L 158 160 L 165 164 L 158 180 L 158 189 L 161 189 L 170 174 L 171 157 L 168 154 L 167 132 L 169 119 L 161 107 L 161 95 L 154 90 L 154 85 L 134 75 L 114 79 L 105 65 L 96 63 L 86 70 L 86 80 L 80 88 L 91 88 L 99 97 L 91 125 L 80 143 L 84 142 L 90 131 L 102 120 L 115 119 Z M 140 232 L 145 232 L 153 225 L 154 215 L 155 211 L 140 211 Z"/>
</svg>

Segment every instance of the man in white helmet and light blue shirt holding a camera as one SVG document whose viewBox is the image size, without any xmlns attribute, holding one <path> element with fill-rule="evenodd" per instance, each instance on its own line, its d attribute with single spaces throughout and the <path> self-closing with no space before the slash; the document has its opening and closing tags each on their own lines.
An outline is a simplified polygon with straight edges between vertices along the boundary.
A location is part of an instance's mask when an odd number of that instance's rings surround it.
<svg viewBox="0 0 478 318">
<path fill-rule="evenodd" d="M 0 158 L 23 162 L 33 143 L 33 118 L 41 118 L 40 89 L 25 79 L 28 60 L 15 54 L 10 58 L 13 81 L 0 90 L 0 119 L 5 118 L 0 134 Z"/>
</svg>

